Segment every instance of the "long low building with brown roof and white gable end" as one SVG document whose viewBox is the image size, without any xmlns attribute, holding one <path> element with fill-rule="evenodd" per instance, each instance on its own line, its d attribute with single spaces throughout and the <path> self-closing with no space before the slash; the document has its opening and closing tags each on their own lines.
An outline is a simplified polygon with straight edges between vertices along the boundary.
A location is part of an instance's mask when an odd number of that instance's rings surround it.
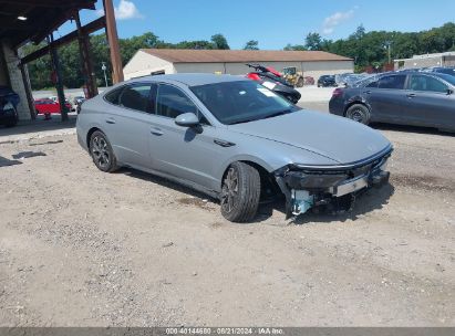
<svg viewBox="0 0 455 336">
<path fill-rule="evenodd" d="M 149 74 L 250 72 L 246 63 L 260 63 L 278 71 L 296 66 L 304 76 L 352 73 L 352 59 L 323 51 L 178 50 L 141 49 L 123 69 L 125 80 Z"/>
</svg>

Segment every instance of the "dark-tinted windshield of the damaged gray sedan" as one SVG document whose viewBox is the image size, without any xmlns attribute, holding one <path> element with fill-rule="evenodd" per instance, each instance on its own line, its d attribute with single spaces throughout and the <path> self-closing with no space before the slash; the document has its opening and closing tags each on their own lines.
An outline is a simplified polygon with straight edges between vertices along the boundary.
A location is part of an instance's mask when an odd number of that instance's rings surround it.
<svg viewBox="0 0 455 336">
<path fill-rule="evenodd" d="M 234 125 L 299 111 L 285 98 L 252 81 L 223 82 L 190 87 L 223 124 Z"/>
</svg>

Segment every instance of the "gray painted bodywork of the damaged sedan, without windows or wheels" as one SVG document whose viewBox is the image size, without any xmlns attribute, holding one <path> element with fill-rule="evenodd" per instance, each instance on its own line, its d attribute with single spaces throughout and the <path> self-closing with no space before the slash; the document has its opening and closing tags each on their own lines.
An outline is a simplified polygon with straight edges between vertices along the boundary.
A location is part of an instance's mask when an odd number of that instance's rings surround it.
<svg viewBox="0 0 455 336">
<path fill-rule="evenodd" d="M 120 86 L 116 85 L 83 104 L 76 124 L 79 143 L 87 149 L 90 130 L 101 129 L 121 165 L 178 180 L 210 195 L 220 191 L 223 175 L 234 161 L 252 161 L 273 172 L 290 164 L 350 164 L 391 146 L 376 130 L 310 111 L 226 126 L 188 88 L 242 80 L 229 75 L 179 74 L 122 83 L 120 85 L 136 82 L 174 85 L 196 104 L 211 125 L 201 126 L 197 133 L 176 125 L 170 118 L 115 106 L 104 96 Z M 159 132 L 154 134 L 156 129 Z M 223 147 L 216 140 L 234 145 Z"/>
</svg>

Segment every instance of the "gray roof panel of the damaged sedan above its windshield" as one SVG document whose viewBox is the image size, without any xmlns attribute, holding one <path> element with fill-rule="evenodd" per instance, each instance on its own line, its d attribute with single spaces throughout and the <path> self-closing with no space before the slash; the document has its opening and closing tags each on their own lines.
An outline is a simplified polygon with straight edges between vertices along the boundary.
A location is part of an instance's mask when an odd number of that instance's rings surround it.
<svg viewBox="0 0 455 336">
<path fill-rule="evenodd" d="M 143 76 L 130 80 L 131 83 L 152 81 L 152 82 L 179 82 L 187 86 L 198 86 L 214 83 L 224 82 L 238 82 L 248 81 L 244 76 L 235 75 L 217 75 L 208 73 L 183 73 L 183 74 L 169 74 L 169 75 L 154 75 L 154 76 Z"/>
</svg>

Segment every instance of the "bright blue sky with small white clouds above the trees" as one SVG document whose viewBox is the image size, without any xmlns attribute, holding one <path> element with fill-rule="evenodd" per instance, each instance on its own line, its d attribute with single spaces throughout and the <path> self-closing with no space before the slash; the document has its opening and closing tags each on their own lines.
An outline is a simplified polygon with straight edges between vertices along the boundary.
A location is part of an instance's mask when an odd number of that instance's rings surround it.
<svg viewBox="0 0 455 336">
<path fill-rule="evenodd" d="M 366 31 L 421 31 L 455 21 L 455 0 L 114 0 L 120 38 L 153 32 L 166 42 L 226 36 L 231 49 L 249 40 L 261 50 L 304 44 L 309 32 L 323 39 L 344 39 L 363 24 Z M 102 14 L 83 10 L 83 23 Z M 66 23 L 56 32 L 74 29 Z"/>
</svg>

